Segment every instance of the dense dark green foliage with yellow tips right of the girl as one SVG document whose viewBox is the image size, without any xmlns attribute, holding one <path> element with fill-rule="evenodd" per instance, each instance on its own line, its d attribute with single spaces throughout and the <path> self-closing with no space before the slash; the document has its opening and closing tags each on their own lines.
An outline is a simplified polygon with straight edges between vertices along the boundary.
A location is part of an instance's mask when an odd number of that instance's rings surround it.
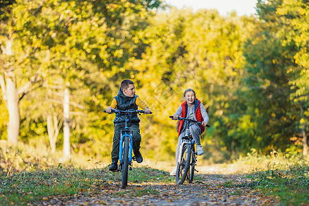
<svg viewBox="0 0 309 206">
<path fill-rule="evenodd" d="M 304 130 L 305 136 L 308 133 L 304 120 L 306 119 L 304 111 L 306 112 L 308 103 L 302 101 L 295 104 L 297 101 L 290 101 L 296 91 L 296 87 L 290 85 L 293 84 L 295 77 L 301 76 L 297 72 L 294 73 L 296 76 L 291 73 L 292 68 L 299 68 L 295 55 L 301 47 L 295 47 L 292 43 L 294 41 L 286 41 L 291 38 L 293 31 L 297 32 L 295 27 L 290 27 L 289 22 L 292 19 L 305 25 L 308 23 L 298 14 L 295 14 L 294 18 L 293 15 L 289 16 L 283 12 L 283 8 L 285 12 L 292 13 L 295 11 L 295 6 L 297 11 L 304 11 L 307 8 L 306 3 L 301 1 L 293 1 L 293 6 L 288 8 L 287 5 L 290 3 L 292 1 L 258 1 L 257 12 L 260 21 L 255 23 L 252 35 L 244 47 L 246 72 L 236 93 L 240 98 L 236 106 L 242 106 L 243 112 L 233 113 L 232 116 L 236 117 L 236 122 L 241 120 L 244 124 L 233 124 L 231 134 L 241 136 L 245 144 L 239 145 L 247 150 L 249 148 L 258 148 L 264 152 L 277 148 L 290 150 L 291 141 L 301 137 L 299 128 Z M 301 20 L 298 20 L 299 18 Z M 303 32 L 306 34 L 306 26 Z M 303 85 L 301 88 L 307 86 Z M 307 93 L 304 96 L 306 95 Z M 299 121 L 302 123 L 299 124 Z M 240 125 L 247 125 L 242 132 Z M 295 144 L 298 144 L 297 141 Z"/>
</svg>

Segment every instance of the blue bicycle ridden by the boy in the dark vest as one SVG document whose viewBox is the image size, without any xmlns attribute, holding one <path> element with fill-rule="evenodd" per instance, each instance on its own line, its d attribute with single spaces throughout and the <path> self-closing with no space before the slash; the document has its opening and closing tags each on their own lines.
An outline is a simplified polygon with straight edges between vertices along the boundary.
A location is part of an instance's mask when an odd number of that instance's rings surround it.
<svg viewBox="0 0 309 206">
<path fill-rule="evenodd" d="M 106 111 L 104 111 L 106 112 Z M 121 136 L 119 141 L 119 171 L 122 171 L 122 189 L 125 189 L 128 186 L 128 165 L 130 165 L 130 170 L 132 170 L 132 150 L 133 150 L 133 131 L 128 127 L 130 122 L 130 117 L 134 114 L 141 115 L 145 113 L 144 110 L 118 110 L 114 109 L 111 113 L 122 113 L 126 115 L 126 123 L 124 130 L 121 130 Z M 109 113 L 109 114 L 111 114 Z M 150 112 L 152 114 L 152 112 Z"/>
</svg>

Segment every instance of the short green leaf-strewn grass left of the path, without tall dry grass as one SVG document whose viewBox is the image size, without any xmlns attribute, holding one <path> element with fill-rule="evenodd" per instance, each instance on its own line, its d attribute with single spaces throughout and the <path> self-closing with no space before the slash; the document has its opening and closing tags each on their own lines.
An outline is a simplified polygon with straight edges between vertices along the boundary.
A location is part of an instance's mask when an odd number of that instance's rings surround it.
<svg viewBox="0 0 309 206">
<path fill-rule="evenodd" d="M 133 168 L 128 181 L 133 183 L 145 181 L 161 181 L 167 172 L 151 168 Z M 147 176 L 154 177 L 153 179 Z M 164 179 L 164 181 L 169 181 Z M 83 195 L 100 192 L 111 188 L 115 182 L 121 182 L 121 172 L 109 172 L 108 168 L 85 170 L 78 168 L 58 167 L 49 170 L 36 170 L 34 172 L 19 172 L 16 174 L 0 174 L 0 204 L 35 203 L 44 197 L 57 195 L 74 195 L 82 192 Z M 172 181 L 172 180 L 171 180 Z M 131 196 L 157 194 L 156 190 L 128 191 Z M 124 192 L 116 192 L 115 196 Z"/>
</svg>

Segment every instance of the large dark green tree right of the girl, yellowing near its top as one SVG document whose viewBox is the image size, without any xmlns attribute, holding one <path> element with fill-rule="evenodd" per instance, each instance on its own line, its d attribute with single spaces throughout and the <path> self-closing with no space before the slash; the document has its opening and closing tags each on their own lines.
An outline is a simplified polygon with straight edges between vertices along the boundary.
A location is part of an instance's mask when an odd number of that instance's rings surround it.
<svg viewBox="0 0 309 206">
<path fill-rule="evenodd" d="M 257 12 L 260 23 L 256 24 L 255 35 L 249 39 L 244 50 L 247 60 L 244 95 L 251 97 L 247 101 L 246 114 L 258 127 L 253 130 L 253 142 L 259 145 L 258 148 L 264 148 L 265 152 L 293 148 L 290 146 L 290 140 L 298 139 L 297 124 L 299 121 L 304 122 L 301 120 L 304 118 L 299 114 L 303 108 L 307 109 L 308 105 L 305 100 L 306 96 L 308 97 L 306 93 L 308 84 L 304 83 L 307 77 L 300 76 L 301 71 L 306 69 L 299 67 L 296 59 L 299 52 L 304 52 L 302 47 L 306 47 L 308 41 L 304 41 L 304 45 L 301 43 L 298 47 L 293 40 L 297 39 L 298 28 L 290 27 L 297 21 L 303 22 L 304 25 L 308 23 L 305 23 L 302 16 L 293 16 L 291 13 L 282 15 L 284 10 L 281 9 L 283 6 L 285 12 L 287 10 L 293 12 L 295 5 L 299 5 L 300 2 L 258 1 Z M 293 5 L 287 6 L 287 3 Z M 304 5 L 306 3 L 301 4 L 296 10 L 306 9 Z M 283 13 L 280 14 L 281 12 Z M 308 29 L 305 26 L 304 30 L 299 32 L 306 34 L 306 31 Z M 297 85 L 301 87 L 298 88 Z M 299 89 L 304 93 L 299 95 Z M 305 100 L 301 102 L 304 104 L 295 104 L 299 102 L 298 98 L 301 101 Z"/>
</svg>

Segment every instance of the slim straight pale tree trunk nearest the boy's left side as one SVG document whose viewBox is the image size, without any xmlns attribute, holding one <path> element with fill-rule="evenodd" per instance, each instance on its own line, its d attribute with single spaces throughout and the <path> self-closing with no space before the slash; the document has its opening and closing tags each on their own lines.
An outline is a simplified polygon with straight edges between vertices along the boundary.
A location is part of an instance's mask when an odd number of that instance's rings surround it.
<svg viewBox="0 0 309 206">
<path fill-rule="evenodd" d="M 63 101 L 63 155 L 65 158 L 70 157 L 69 95 L 69 89 L 65 88 L 65 96 Z"/>
</svg>

